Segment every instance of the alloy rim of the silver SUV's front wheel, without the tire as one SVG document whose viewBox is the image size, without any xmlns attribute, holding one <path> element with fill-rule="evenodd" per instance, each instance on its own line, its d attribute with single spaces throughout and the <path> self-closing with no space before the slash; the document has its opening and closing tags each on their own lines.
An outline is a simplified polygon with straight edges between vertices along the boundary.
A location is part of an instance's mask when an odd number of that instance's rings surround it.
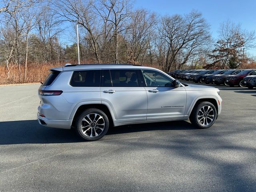
<svg viewBox="0 0 256 192">
<path fill-rule="evenodd" d="M 197 113 L 198 123 L 202 126 L 208 126 L 213 122 L 214 115 L 214 110 L 211 106 L 203 106 Z"/>
</svg>

